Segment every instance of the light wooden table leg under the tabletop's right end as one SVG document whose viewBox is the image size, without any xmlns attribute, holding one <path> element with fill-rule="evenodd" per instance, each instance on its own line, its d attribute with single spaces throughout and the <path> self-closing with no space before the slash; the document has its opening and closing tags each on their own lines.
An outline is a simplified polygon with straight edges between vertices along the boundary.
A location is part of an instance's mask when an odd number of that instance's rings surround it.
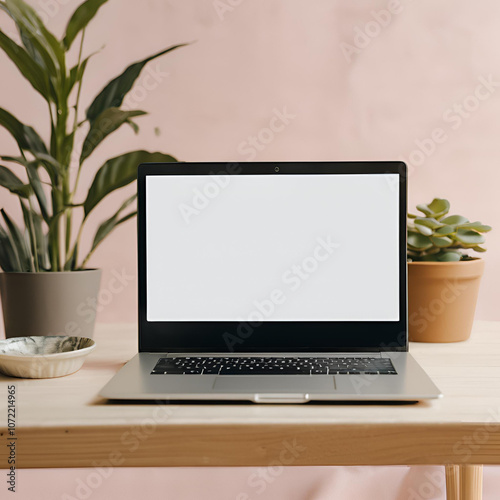
<svg viewBox="0 0 500 500">
<path fill-rule="evenodd" d="M 482 465 L 446 466 L 446 500 L 481 500 L 482 498 Z"/>
</svg>

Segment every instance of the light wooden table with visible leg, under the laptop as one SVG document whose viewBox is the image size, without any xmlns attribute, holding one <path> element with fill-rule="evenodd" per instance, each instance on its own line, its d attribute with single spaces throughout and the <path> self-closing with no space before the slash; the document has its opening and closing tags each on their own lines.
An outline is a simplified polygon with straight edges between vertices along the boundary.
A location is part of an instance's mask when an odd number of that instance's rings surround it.
<svg viewBox="0 0 500 500">
<path fill-rule="evenodd" d="M 467 342 L 412 344 L 444 398 L 410 405 L 109 403 L 97 393 L 136 335 L 99 325 L 97 348 L 68 377 L 0 376 L 2 440 L 16 386 L 18 467 L 434 464 L 446 466 L 448 499 L 476 500 L 481 464 L 500 464 L 500 323 L 477 322 Z"/>
</svg>

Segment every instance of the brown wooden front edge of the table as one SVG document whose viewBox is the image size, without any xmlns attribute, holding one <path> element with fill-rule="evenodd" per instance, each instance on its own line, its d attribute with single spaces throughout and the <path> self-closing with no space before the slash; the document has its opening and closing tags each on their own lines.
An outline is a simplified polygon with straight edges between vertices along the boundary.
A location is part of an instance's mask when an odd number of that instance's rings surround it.
<svg viewBox="0 0 500 500">
<path fill-rule="evenodd" d="M 19 467 L 423 465 L 466 463 L 454 443 L 475 426 L 166 425 L 68 427 L 19 431 Z M 495 450 L 495 451 L 493 451 Z M 500 461 L 500 436 L 475 462 Z M 111 464 L 111 457 L 119 463 Z"/>
</svg>

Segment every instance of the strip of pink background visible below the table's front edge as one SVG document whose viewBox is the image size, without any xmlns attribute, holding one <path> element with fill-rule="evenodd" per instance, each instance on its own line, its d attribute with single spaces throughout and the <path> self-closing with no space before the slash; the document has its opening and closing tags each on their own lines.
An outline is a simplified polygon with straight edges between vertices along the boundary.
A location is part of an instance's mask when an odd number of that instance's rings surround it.
<svg viewBox="0 0 500 500">
<path fill-rule="evenodd" d="M 498 500 L 496 467 L 483 500 Z M 29 476 L 29 479 L 28 477 Z M 21 471 L 16 500 L 445 500 L 442 467 L 234 467 Z M 50 486 L 48 486 L 50 485 Z M 160 493 L 162 492 L 162 494 Z"/>
</svg>

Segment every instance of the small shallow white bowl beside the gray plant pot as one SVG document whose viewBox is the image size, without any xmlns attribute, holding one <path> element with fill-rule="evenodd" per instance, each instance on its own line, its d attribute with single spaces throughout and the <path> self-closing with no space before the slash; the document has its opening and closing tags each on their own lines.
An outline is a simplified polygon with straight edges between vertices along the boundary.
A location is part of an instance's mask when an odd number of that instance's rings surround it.
<svg viewBox="0 0 500 500">
<path fill-rule="evenodd" d="M 63 377 L 78 371 L 95 345 L 66 335 L 0 340 L 0 371 L 19 378 Z"/>
</svg>

